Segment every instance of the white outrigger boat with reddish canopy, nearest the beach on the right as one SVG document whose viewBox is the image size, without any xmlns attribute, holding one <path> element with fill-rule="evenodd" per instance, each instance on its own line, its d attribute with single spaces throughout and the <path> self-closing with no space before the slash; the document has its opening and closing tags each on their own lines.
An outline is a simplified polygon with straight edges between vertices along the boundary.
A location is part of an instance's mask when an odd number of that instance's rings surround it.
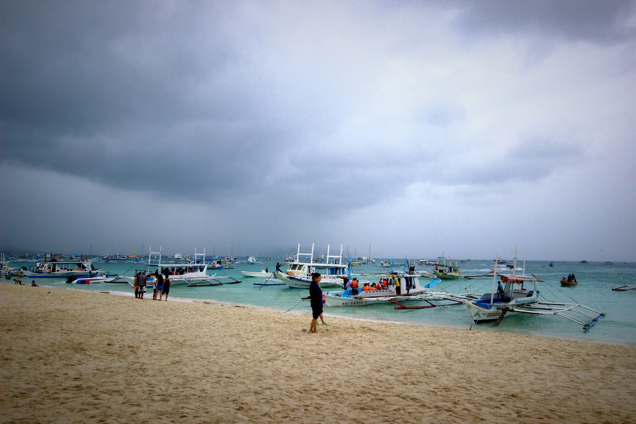
<svg viewBox="0 0 636 424">
<path fill-rule="evenodd" d="M 497 260 L 495 260 L 495 270 L 492 273 L 492 291 L 481 295 L 478 299 L 472 296 L 462 296 L 445 294 L 441 297 L 448 300 L 461 301 L 471 313 L 475 324 L 481 322 L 495 321 L 497 326 L 504 316 L 518 313 L 530 313 L 534 315 L 559 315 L 583 325 L 583 329 L 589 329 L 596 324 L 600 318 L 605 317 L 605 313 L 593 310 L 588 306 L 579 303 L 557 303 L 539 301 L 539 290 L 537 282 L 544 282 L 541 278 L 532 275 L 525 275 L 525 263 L 523 264 L 523 275 L 500 274 L 501 283 L 504 284 L 502 290 L 495 291 L 497 283 Z M 531 288 L 524 287 L 525 284 L 532 284 Z M 516 286 L 518 285 L 518 286 Z"/>
</svg>

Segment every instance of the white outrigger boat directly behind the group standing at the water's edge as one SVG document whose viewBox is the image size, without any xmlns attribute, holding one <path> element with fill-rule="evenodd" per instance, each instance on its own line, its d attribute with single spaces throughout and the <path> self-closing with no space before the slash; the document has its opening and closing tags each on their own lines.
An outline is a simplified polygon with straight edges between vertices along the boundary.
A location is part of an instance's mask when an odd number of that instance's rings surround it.
<svg viewBox="0 0 636 424">
<path fill-rule="evenodd" d="M 221 285 L 221 284 L 237 284 L 240 283 L 241 280 L 237 280 L 233 277 L 228 277 L 223 275 L 221 277 L 216 277 L 216 274 L 208 275 L 207 268 L 208 265 L 205 264 L 205 250 L 203 253 L 195 252 L 193 256 L 193 263 L 162 263 L 162 254 L 161 252 L 150 252 L 149 257 L 158 257 L 158 263 L 153 263 L 152 259 L 148 259 L 146 263 L 146 270 L 135 270 L 135 274 L 139 273 L 139 271 L 146 271 L 146 275 L 153 276 L 155 272 L 158 271 L 160 274 L 165 275 L 168 273 L 170 278 L 170 285 L 174 284 L 188 284 L 188 287 L 204 287 L 209 285 Z M 122 276 L 128 284 L 134 286 L 135 285 L 135 277 L 127 277 Z M 221 282 L 220 280 L 228 279 L 228 282 Z M 146 282 L 153 283 L 155 282 L 155 277 L 146 278 Z M 202 284 L 204 283 L 204 284 Z"/>
</svg>

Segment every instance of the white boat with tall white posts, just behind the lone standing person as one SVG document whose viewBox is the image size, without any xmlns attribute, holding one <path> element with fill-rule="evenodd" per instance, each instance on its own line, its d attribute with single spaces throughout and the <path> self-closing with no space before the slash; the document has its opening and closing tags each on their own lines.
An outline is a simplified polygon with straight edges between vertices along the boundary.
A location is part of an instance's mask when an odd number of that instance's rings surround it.
<svg viewBox="0 0 636 424">
<path fill-rule="evenodd" d="M 342 287 L 342 277 L 347 275 L 347 265 L 342 263 L 342 245 L 340 245 L 340 255 L 330 255 L 330 249 L 331 246 L 328 246 L 324 264 L 314 263 L 314 244 L 312 244 L 311 252 L 301 252 L 299 243 L 296 260 L 287 265 L 285 272 L 277 271 L 276 277 L 290 289 L 309 289 L 312 282 L 311 275 L 317 272 L 322 274 L 321 287 Z M 301 260 L 307 257 L 308 262 Z"/>
</svg>

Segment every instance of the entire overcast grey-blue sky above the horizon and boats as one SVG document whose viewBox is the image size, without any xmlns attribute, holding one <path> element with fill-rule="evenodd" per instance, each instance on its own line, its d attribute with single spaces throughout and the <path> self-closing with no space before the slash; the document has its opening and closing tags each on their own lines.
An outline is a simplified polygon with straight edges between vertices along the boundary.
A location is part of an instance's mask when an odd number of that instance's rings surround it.
<svg viewBox="0 0 636 424">
<path fill-rule="evenodd" d="M 636 261 L 633 1 L 0 5 L 0 249 Z"/>
</svg>

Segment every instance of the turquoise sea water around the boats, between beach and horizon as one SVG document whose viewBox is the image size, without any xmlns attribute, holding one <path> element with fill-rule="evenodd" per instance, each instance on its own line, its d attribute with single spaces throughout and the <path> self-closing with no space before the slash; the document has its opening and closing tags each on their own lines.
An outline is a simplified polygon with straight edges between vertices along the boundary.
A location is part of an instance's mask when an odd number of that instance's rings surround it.
<svg viewBox="0 0 636 424">
<path fill-rule="evenodd" d="M 242 258 L 241 258 L 242 259 Z M 308 292 L 301 289 L 288 289 L 286 285 L 256 286 L 254 282 L 262 278 L 244 278 L 240 271 L 260 271 L 267 266 L 270 271 L 276 267 L 276 261 L 263 261 L 261 264 L 237 264 L 233 270 L 216 270 L 218 275 L 229 275 L 242 280 L 240 284 L 221 285 L 216 287 L 186 287 L 179 284 L 170 288 L 172 299 L 209 299 L 245 306 L 256 306 L 269 310 L 292 312 L 309 311 L 308 301 L 301 301 L 301 297 Z M 377 259 L 380 263 L 380 259 Z M 518 268 L 523 263 L 518 262 Z M 466 275 L 479 275 L 490 271 L 494 264 L 492 261 L 470 261 L 460 264 L 462 273 Z M 96 263 L 96 268 L 110 271 L 111 273 L 133 275 L 135 269 L 143 269 L 141 264 L 133 263 Z M 376 265 L 357 266 L 358 270 L 368 273 L 385 272 L 387 268 Z M 432 266 L 418 266 L 418 270 L 432 271 Z M 286 266 L 283 267 L 283 270 Z M 403 270 L 403 267 L 396 268 Z M 581 325 L 570 320 L 556 316 L 541 316 L 520 314 L 504 318 L 499 327 L 493 327 L 492 323 L 474 325 L 471 315 L 463 305 L 429 308 L 423 310 L 394 310 L 394 305 L 377 304 L 359 307 L 325 307 L 326 315 L 349 317 L 357 319 L 380 320 L 389 322 L 403 322 L 408 324 L 438 325 L 444 327 L 457 327 L 473 331 L 516 332 L 532 334 L 535 336 L 548 336 L 563 339 L 576 339 L 601 343 L 619 343 L 621 345 L 636 346 L 636 290 L 628 292 L 611 291 L 613 287 L 625 284 L 636 284 L 636 263 L 603 263 L 581 264 L 576 262 L 555 262 L 554 267 L 548 267 L 546 261 L 528 261 L 526 273 L 534 274 L 546 280 L 539 283 L 539 291 L 550 301 L 563 301 L 565 303 L 581 303 L 598 311 L 605 312 L 602 318 L 591 329 L 584 331 Z M 521 271 L 516 271 L 520 273 Z M 511 271 L 504 271 L 511 273 Z M 562 287 L 560 279 L 574 273 L 579 284 L 574 287 Z M 23 278 L 23 281 L 26 279 Z M 427 281 L 427 280 L 425 280 Z M 6 280 L 3 280 L 6 282 Z M 128 284 L 66 284 L 64 279 L 38 279 L 39 285 L 59 287 L 63 289 L 78 289 L 86 291 L 111 291 L 119 294 L 133 296 L 134 291 Z M 30 283 L 30 281 L 29 281 Z M 436 287 L 436 291 L 465 292 L 466 290 L 482 294 L 490 292 L 491 278 L 478 280 L 442 280 Z M 328 290 L 328 289 L 326 289 Z M 152 298 L 152 291 L 146 294 Z M 300 302 L 300 303 L 299 303 Z M 409 303 L 415 304 L 415 303 Z M 131 303 L 134 307 L 134 303 Z"/>
</svg>

